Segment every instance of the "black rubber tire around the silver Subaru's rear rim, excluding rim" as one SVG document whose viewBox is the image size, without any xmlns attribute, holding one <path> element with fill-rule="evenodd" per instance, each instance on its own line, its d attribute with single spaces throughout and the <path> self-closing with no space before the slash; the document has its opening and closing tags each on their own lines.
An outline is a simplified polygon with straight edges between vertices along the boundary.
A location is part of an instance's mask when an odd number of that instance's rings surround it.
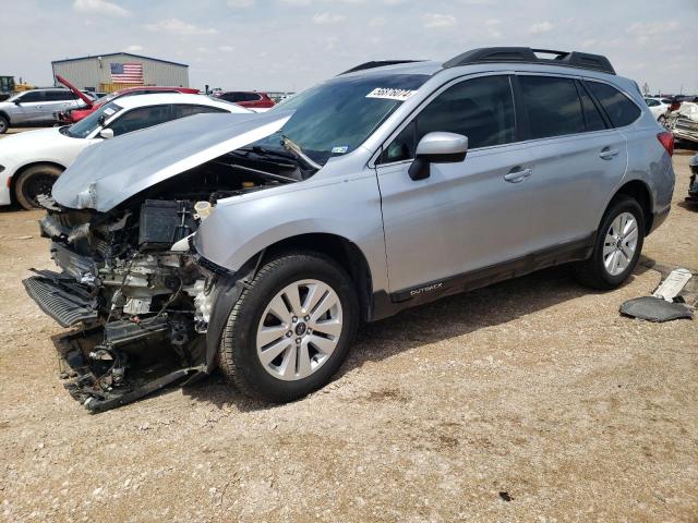
<svg viewBox="0 0 698 523">
<path fill-rule="evenodd" d="M 630 259 L 630 263 L 618 275 L 611 275 L 603 263 L 603 247 L 605 244 L 606 232 L 611 228 L 611 223 L 618 215 L 623 212 L 629 212 L 635 218 L 638 224 L 638 238 L 635 254 Z M 575 266 L 575 278 L 583 285 L 591 287 L 602 291 L 615 289 L 621 285 L 630 276 L 637 260 L 642 252 L 642 243 L 645 242 L 645 215 L 642 207 L 637 203 L 635 198 L 629 196 L 619 195 L 614 198 L 601 220 L 599 230 L 597 231 L 597 239 L 594 242 L 593 252 L 591 257 L 585 262 L 581 262 Z"/>
</svg>

